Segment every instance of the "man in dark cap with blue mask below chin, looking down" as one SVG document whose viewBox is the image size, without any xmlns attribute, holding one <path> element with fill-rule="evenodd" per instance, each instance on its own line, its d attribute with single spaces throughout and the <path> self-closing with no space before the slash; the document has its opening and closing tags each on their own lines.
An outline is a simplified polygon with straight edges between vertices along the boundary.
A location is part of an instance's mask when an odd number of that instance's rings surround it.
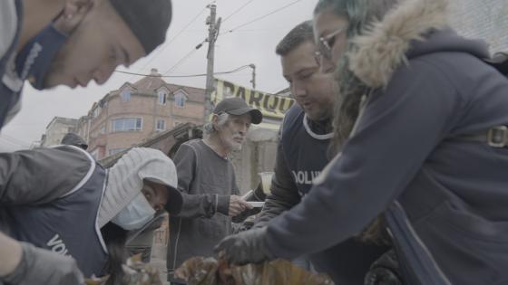
<svg viewBox="0 0 508 285">
<path fill-rule="evenodd" d="M 171 0 L 0 1 L 0 128 L 35 89 L 103 84 L 164 42 Z"/>
</svg>

